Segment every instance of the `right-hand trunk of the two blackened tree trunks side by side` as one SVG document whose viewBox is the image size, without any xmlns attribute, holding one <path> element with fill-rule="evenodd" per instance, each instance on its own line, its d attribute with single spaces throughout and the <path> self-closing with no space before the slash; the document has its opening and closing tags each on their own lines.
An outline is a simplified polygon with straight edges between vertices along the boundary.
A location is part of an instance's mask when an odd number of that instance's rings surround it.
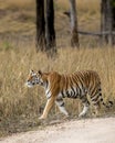
<svg viewBox="0 0 115 143">
<path fill-rule="evenodd" d="M 46 51 L 56 52 L 53 0 L 46 0 L 45 40 L 46 40 Z"/>
</svg>

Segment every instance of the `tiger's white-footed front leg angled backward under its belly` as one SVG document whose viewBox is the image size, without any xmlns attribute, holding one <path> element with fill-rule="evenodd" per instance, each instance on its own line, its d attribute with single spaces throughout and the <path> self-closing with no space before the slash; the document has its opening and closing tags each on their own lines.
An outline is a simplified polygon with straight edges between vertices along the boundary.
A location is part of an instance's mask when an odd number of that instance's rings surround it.
<svg viewBox="0 0 115 143">
<path fill-rule="evenodd" d="M 66 117 L 69 117 L 69 113 L 64 107 L 64 101 L 62 98 L 58 98 L 55 101 L 56 106 L 59 107 L 60 111 L 65 114 Z"/>
</svg>

